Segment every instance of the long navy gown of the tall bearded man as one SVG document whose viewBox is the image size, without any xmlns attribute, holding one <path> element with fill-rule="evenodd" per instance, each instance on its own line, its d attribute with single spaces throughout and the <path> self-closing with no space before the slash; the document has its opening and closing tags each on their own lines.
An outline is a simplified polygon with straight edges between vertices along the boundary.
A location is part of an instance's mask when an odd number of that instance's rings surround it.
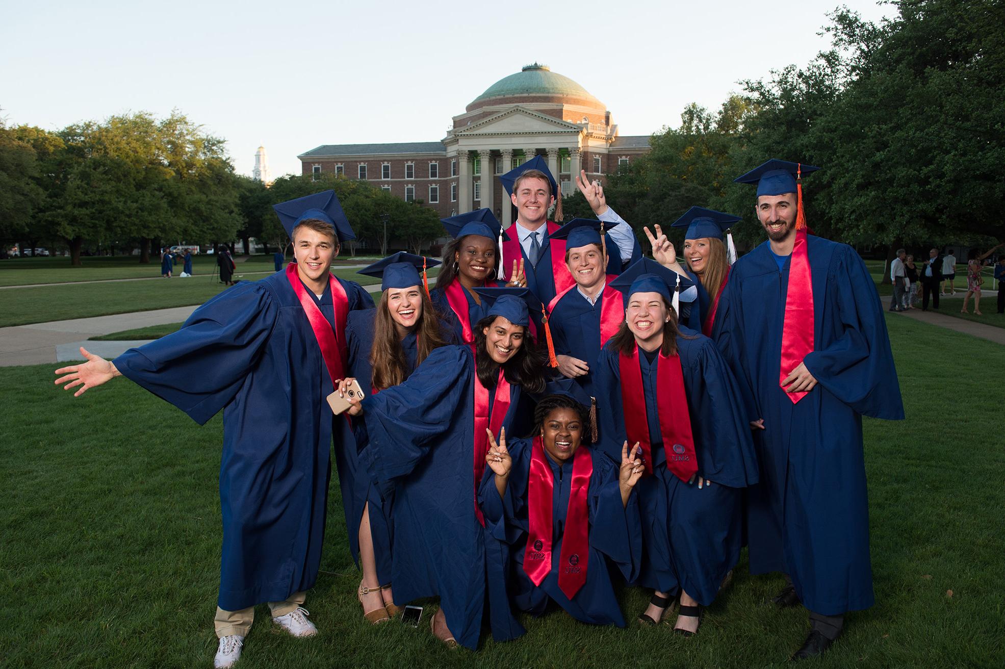
<svg viewBox="0 0 1005 669">
<path fill-rule="evenodd" d="M 810 611 L 837 615 L 873 604 L 862 415 L 903 418 L 882 305 L 865 263 L 812 235 L 814 345 L 805 359 L 818 385 L 792 404 L 779 387 L 789 260 L 769 242 L 730 272 L 715 336 L 748 389 L 761 483 L 747 506 L 753 574 L 786 572 Z M 724 308 L 725 305 L 725 308 Z"/>
</svg>

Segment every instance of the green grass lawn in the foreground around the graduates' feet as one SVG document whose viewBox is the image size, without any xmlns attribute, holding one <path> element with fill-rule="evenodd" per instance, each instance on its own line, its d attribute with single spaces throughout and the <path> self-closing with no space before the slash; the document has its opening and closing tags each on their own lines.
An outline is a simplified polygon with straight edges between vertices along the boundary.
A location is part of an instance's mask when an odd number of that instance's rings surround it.
<svg viewBox="0 0 1005 669">
<path fill-rule="evenodd" d="M 971 403 L 947 411 L 945 397 L 963 397 L 969 379 L 1003 369 L 1005 348 L 907 318 L 887 322 L 908 420 L 863 425 L 876 606 L 849 615 L 844 635 L 810 666 L 1000 667 L 1001 419 Z M 967 352 L 951 373 L 934 355 L 947 349 Z M 0 664 L 210 666 L 219 417 L 200 428 L 126 380 L 73 399 L 52 385 L 55 367 L 0 368 L 8 417 L 0 426 L 7 500 L 0 510 Z M 942 392 L 932 393 L 933 384 Z M 243 669 L 781 667 L 808 630 L 805 612 L 765 605 L 781 577 L 751 577 L 744 560 L 733 588 L 690 639 L 665 626 L 587 626 L 553 611 L 525 617 L 521 640 L 488 638 L 477 654 L 449 651 L 424 625 L 365 624 L 334 480 L 330 489 L 324 574 L 306 604 L 321 636 L 276 632 L 258 607 Z M 626 590 L 626 617 L 646 599 Z"/>
</svg>

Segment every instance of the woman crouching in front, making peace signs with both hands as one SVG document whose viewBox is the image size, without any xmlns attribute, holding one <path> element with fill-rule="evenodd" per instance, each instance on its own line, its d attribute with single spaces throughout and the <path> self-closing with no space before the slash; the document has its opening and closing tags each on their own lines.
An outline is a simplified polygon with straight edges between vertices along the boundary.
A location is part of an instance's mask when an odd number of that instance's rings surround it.
<svg viewBox="0 0 1005 669">
<path fill-rule="evenodd" d="M 534 412 L 533 439 L 488 438 L 485 529 L 517 546 L 510 592 L 521 610 L 541 616 L 552 600 L 584 623 L 624 627 L 608 560 L 626 580 L 637 577 L 642 536 L 632 488 L 642 460 L 637 447 L 628 455 L 627 442 L 620 467 L 583 444 L 591 423 L 582 402 L 590 398 L 575 381 L 548 392 Z"/>
</svg>

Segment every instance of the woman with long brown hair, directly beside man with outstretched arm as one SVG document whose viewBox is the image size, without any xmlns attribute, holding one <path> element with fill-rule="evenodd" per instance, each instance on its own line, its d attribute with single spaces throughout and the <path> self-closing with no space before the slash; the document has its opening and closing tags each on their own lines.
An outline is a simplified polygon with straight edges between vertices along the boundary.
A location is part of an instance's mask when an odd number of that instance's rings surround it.
<svg viewBox="0 0 1005 669">
<path fill-rule="evenodd" d="M 382 279 L 377 308 L 351 311 L 346 325 L 349 375 L 359 381 L 366 395 L 400 384 L 452 334 L 429 301 L 426 264 L 422 256 L 395 253 L 358 272 Z M 439 261 L 429 260 L 428 264 L 438 265 Z M 345 382 L 340 388 L 345 390 Z M 353 423 L 353 436 L 356 443 L 338 454 L 339 482 L 349 548 L 363 571 L 357 597 L 364 617 L 380 623 L 398 613 L 391 592 L 394 493 L 391 488 L 378 490 L 367 473 L 359 471 L 357 453 L 368 441 L 364 421 Z"/>
</svg>

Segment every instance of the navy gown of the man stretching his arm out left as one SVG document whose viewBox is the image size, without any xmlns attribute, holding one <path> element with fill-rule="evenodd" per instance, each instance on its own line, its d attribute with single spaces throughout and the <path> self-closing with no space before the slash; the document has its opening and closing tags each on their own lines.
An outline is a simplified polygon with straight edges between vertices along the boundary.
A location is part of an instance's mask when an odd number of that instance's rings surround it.
<svg viewBox="0 0 1005 669">
<path fill-rule="evenodd" d="M 350 309 L 373 304 L 359 284 L 337 280 Z M 322 311 L 334 323 L 331 288 L 326 294 Z M 337 449 L 350 435 L 325 401 L 332 380 L 285 273 L 221 292 L 177 332 L 114 363 L 199 424 L 223 409 L 219 607 L 238 611 L 311 588 L 333 431 Z"/>
</svg>

